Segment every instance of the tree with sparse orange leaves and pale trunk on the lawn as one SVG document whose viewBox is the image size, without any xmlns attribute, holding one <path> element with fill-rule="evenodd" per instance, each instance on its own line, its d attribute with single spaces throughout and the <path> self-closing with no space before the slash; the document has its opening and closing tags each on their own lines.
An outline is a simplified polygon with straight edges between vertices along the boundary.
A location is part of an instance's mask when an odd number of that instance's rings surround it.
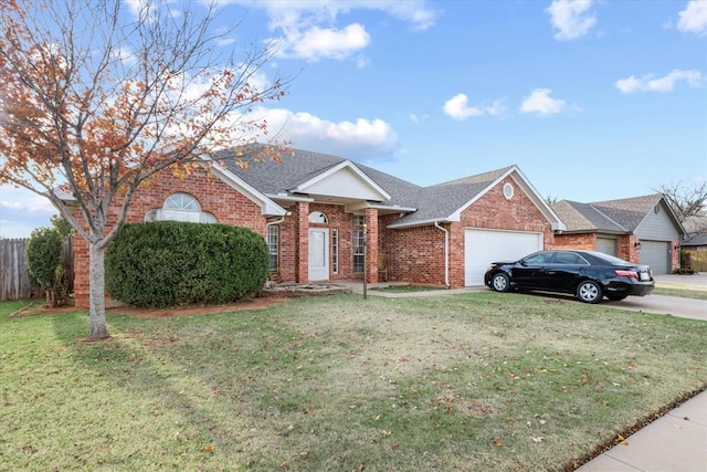
<svg viewBox="0 0 707 472">
<path fill-rule="evenodd" d="M 266 134 L 247 112 L 287 82 L 264 81 L 267 46 L 220 45 L 213 4 L 175 6 L 0 0 L 0 183 L 50 199 L 87 242 L 92 339 L 108 337 L 104 255 L 138 186 Z"/>
</svg>

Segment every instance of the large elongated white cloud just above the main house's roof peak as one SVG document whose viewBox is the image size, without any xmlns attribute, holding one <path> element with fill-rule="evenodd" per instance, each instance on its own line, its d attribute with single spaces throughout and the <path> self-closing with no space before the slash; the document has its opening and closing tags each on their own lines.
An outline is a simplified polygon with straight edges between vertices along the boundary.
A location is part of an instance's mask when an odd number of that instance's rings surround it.
<svg viewBox="0 0 707 472">
<path fill-rule="evenodd" d="M 335 154 L 366 161 L 392 158 L 398 135 L 382 119 L 330 122 L 309 113 L 258 108 L 253 117 L 267 120 L 271 135 L 289 141 L 292 147 Z"/>
</svg>

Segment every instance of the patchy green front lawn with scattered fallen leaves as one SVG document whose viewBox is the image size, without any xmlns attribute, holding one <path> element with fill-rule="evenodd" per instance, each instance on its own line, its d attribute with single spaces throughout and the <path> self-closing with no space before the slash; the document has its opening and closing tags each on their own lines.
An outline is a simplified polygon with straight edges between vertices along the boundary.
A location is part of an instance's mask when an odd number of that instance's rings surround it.
<svg viewBox="0 0 707 472">
<path fill-rule="evenodd" d="M 569 300 L 109 314 L 102 343 L 22 305 L 0 304 L 0 470 L 563 470 L 707 386 L 707 323 Z"/>
</svg>

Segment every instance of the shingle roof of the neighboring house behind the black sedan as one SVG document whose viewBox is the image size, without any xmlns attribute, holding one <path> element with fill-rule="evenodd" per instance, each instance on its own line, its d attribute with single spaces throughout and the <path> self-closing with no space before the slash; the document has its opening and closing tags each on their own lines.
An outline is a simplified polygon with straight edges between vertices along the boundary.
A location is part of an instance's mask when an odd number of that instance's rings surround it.
<svg viewBox="0 0 707 472">
<path fill-rule="evenodd" d="M 593 203 L 561 200 L 552 209 L 567 225 L 567 231 L 632 233 L 662 198 L 661 193 L 654 193 Z"/>
</svg>

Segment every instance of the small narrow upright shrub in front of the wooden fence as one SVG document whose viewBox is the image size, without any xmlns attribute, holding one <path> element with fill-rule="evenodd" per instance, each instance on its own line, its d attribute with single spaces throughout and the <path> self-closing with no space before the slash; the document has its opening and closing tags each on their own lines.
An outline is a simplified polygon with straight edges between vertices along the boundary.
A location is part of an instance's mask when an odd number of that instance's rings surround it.
<svg viewBox="0 0 707 472">
<path fill-rule="evenodd" d="M 62 235 L 55 228 L 38 228 L 27 243 L 28 272 L 44 291 L 46 305 L 59 303 L 59 276 L 62 270 Z"/>
</svg>

